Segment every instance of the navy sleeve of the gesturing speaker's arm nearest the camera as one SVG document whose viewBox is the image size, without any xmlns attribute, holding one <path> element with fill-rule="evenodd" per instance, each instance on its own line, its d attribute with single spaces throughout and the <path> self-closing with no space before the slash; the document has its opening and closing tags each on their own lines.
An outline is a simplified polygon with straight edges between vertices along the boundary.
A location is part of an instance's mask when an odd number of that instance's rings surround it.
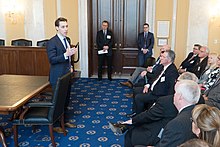
<svg viewBox="0 0 220 147">
<path fill-rule="evenodd" d="M 48 41 L 47 55 L 48 55 L 48 59 L 49 59 L 50 64 L 57 64 L 57 63 L 62 63 L 62 62 L 66 61 L 63 53 L 58 55 L 57 52 L 58 51 L 57 51 L 56 42 L 53 40 Z"/>
</svg>

